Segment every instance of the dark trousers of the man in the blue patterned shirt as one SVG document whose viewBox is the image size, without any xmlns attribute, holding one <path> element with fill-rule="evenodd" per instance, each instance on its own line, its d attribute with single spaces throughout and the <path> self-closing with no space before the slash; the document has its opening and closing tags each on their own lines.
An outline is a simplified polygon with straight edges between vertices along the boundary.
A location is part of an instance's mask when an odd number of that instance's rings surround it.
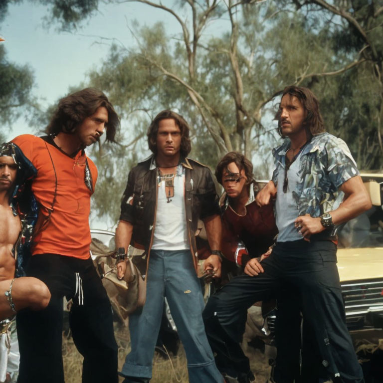
<svg viewBox="0 0 383 383">
<path fill-rule="evenodd" d="M 364 382 L 346 327 L 336 266 L 336 245 L 331 241 L 278 242 L 272 255 L 262 265 L 264 273 L 256 277 L 245 275 L 234 278 L 206 305 L 203 317 L 208 339 L 213 342 L 213 351 L 218 355 L 229 353 L 227 356 L 233 357 L 235 345 L 238 347 L 241 340 L 238 334 L 242 334 L 238 328 L 242 323 L 236 320 L 237 316 L 243 315 L 244 308 L 254 302 L 274 295 L 278 299 L 278 294 L 287 284 L 291 286 L 292 296 L 298 296 L 298 302 L 293 306 L 300 306 L 305 323 L 314 329 L 319 363 L 327 375 L 323 378 L 338 379 L 344 383 Z M 282 312 L 288 310 L 285 308 Z M 295 309 L 293 312 L 296 312 Z M 278 316 L 278 323 L 281 323 L 285 318 Z M 291 334 L 279 334 L 278 337 L 282 337 L 283 347 L 282 350 L 278 347 L 274 379 L 277 383 L 291 382 L 291 376 L 288 376 L 291 372 L 288 366 L 289 350 L 285 350 L 287 342 L 283 340 Z"/>
</svg>

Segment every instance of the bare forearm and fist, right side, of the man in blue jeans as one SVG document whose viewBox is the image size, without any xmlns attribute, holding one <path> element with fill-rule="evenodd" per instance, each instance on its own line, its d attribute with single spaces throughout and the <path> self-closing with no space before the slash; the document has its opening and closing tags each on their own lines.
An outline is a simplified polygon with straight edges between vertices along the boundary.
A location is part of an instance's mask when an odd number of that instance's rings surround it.
<svg viewBox="0 0 383 383">
<path fill-rule="evenodd" d="M 203 220 L 207 240 L 212 250 L 221 249 L 222 223 L 219 215 L 212 215 Z M 211 270 L 215 277 L 221 275 L 221 258 L 218 255 L 210 255 L 205 260 L 205 271 Z"/>
</svg>

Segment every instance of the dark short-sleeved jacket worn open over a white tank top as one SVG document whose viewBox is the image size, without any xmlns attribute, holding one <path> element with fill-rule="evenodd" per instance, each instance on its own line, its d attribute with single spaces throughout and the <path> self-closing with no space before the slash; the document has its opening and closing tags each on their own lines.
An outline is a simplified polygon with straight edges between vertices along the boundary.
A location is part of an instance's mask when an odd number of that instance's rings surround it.
<svg viewBox="0 0 383 383">
<path fill-rule="evenodd" d="M 189 158 L 181 158 L 180 163 L 185 168 L 186 224 L 196 268 L 197 260 L 194 255 L 198 219 L 220 214 L 220 209 L 210 170 Z M 121 201 L 120 219 L 134 226 L 131 244 L 144 248 L 148 255 L 156 221 L 157 175 L 158 168 L 155 166 L 154 156 L 139 163 L 129 173 L 128 184 Z"/>
</svg>

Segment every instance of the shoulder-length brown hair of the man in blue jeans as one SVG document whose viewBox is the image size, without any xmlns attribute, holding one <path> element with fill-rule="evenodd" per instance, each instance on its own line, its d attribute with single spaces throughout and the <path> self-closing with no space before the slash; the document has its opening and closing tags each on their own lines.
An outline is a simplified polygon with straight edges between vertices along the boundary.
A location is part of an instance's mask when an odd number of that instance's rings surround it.
<svg viewBox="0 0 383 383">
<path fill-rule="evenodd" d="M 181 130 L 181 155 L 183 157 L 187 157 L 190 151 L 192 150 L 192 146 L 190 143 L 189 138 L 189 125 L 185 121 L 184 117 L 182 117 L 180 114 L 173 112 L 172 110 L 166 109 L 160 112 L 151 122 L 149 129 L 148 129 L 148 145 L 149 149 L 154 153 L 157 154 L 157 133 L 158 133 L 158 125 L 161 120 L 165 120 L 168 118 L 172 118 L 177 126 Z"/>
</svg>

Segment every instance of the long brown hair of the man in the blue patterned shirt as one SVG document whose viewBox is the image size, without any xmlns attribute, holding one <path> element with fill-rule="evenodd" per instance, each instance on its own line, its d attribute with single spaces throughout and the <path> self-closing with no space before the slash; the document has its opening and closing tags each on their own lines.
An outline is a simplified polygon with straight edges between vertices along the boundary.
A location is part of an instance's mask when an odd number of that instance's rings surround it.
<svg viewBox="0 0 383 383">
<path fill-rule="evenodd" d="M 319 111 L 318 99 L 309 88 L 290 85 L 283 90 L 282 98 L 286 94 L 295 96 L 301 102 L 303 108 L 307 112 L 307 116 L 303 121 L 303 126 L 308 129 L 308 131 L 313 136 L 326 131 L 321 112 Z M 279 110 L 275 115 L 275 119 L 278 120 L 278 133 L 283 137 L 281 127 L 281 112 Z"/>
</svg>

